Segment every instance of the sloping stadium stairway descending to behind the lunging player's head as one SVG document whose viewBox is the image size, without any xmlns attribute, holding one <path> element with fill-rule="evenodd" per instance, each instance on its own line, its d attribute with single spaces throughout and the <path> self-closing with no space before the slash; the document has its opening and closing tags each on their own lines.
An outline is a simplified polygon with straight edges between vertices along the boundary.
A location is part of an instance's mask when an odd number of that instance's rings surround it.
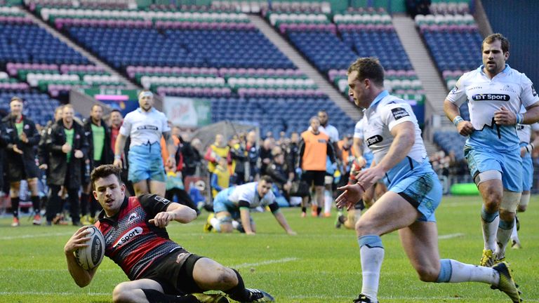
<svg viewBox="0 0 539 303">
<path fill-rule="evenodd" d="M 282 53 L 284 53 L 294 64 L 298 67 L 304 74 L 306 74 L 310 79 L 316 83 L 319 90 L 324 92 L 328 97 L 335 102 L 343 112 L 345 112 L 351 119 L 354 121 L 359 121 L 361 119 L 361 111 L 355 107 L 355 105 L 347 100 L 345 96 L 340 93 L 337 88 L 335 88 L 328 80 L 320 74 L 317 69 L 312 67 L 305 58 L 302 57 L 298 50 L 295 50 L 293 46 L 284 39 L 281 34 L 279 34 L 274 27 L 266 22 L 259 15 L 248 15 L 251 22 L 258 27 L 260 32 L 264 34 L 267 39 L 269 39 Z M 332 119 L 338 119 L 338 117 L 330 117 L 330 123 Z M 334 120 L 333 120 L 334 121 Z M 353 130 L 350 130 L 352 133 Z"/>
</svg>

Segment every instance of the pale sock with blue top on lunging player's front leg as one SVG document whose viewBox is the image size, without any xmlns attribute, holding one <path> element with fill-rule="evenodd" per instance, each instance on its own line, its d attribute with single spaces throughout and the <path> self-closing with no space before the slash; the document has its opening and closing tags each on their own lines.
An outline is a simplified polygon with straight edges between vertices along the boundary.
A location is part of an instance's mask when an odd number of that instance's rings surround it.
<svg viewBox="0 0 539 303">
<path fill-rule="evenodd" d="M 376 235 L 366 235 L 358 238 L 359 255 L 361 256 L 361 274 L 363 285 L 361 293 L 378 301 L 378 285 L 380 284 L 380 269 L 384 260 L 384 245 Z"/>
</svg>

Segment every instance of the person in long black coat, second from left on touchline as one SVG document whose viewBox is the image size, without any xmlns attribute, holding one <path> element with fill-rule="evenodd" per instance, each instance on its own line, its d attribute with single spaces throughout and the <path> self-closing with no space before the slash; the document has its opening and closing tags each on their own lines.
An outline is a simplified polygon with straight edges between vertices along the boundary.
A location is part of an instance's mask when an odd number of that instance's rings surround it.
<svg viewBox="0 0 539 303">
<path fill-rule="evenodd" d="M 58 192 L 62 186 L 69 196 L 69 213 L 74 225 L 80 224 L 79 189 L 82 180 L 82 163 L 88 154 L 88 142 L 84 129 L 73 120 L 72 105 L 65 105 L 62 120 L 48 131 L 46 146 L 49 154 L 47 183 L 51 187 L 51 196 L 47 205 L 47 224 L 60 213 Z"/>
</svg>

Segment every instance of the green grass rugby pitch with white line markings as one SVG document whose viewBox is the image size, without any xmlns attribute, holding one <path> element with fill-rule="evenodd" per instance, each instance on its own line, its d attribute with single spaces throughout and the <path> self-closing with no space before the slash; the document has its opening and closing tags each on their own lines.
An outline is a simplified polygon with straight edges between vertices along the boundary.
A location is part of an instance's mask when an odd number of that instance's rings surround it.
<svg viewBox="0 0 539 303">
<path fill-rule="evenodd" d="M 539 302 L 539 197 L 532 196 L 520 216 L 524 249 L 507 250 L 526 302 Z M 446 197 L 437 210 L 440 255 L 477 264 L 483 240 L 479 197 Z M 262 288 L 277 302 L 352 302 L 361 290 L 359 248 L 354 231 L 335 229 L 335 217 L 300 218 L 298 208 L 284 209 L 298 236 L 287 236 L 270 213 L 255 213 L 258 234 L 204 234 L 206 214 L 187 225 L 173 223 L 173 240 L 198 255 L 239 269 L 247 287 Z M 10 227 L 0 219 L 0 302 L 111 302 L 123 271 L 105 258 L 92 283 L 79 288 L 65 266 L 63 247 L 76 227 L 34 227 L 26 218 Z M 422 283 L 413 271 L 396 233 L 382 236 L 385 260 L 381 302 L 510 302 L 481 283 Z"/>
</svg>

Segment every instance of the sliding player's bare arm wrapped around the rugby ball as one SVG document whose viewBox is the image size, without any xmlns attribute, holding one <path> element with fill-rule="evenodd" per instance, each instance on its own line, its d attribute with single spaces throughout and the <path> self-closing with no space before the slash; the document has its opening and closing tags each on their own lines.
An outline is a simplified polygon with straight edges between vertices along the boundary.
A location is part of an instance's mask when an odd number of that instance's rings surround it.
<svg viewBox="0 0 539 303">
<path fill-rule="evenodd" d="M 95 271 L 98 269 L 98 267 L 94 267 L 93 269 L 87 271 L 86 269 L 82 268 L 75 260 L 75 250 L 88 246 L 88 244 L 86 243 L 90 239 L 86 237 L 86 235 L 88 234 L 88 231 L 86 231 L 86 229 L 88 227 L 89 226 L 84 226 L 75 231 L 73 236 L 69 238 L 69 240 L 67 241 L 67 243 L 65 243 L 64 246 L 65 259 L 67 261 L 67 270 L 69 270 L 69 274 L 71 274 L 76 285 L 79 285 L 79 287 L 81 288 L 84 288 L 86 285 L 90 284 L 93 279 L 93 275 L 95 274 Z"/>
</svg>

